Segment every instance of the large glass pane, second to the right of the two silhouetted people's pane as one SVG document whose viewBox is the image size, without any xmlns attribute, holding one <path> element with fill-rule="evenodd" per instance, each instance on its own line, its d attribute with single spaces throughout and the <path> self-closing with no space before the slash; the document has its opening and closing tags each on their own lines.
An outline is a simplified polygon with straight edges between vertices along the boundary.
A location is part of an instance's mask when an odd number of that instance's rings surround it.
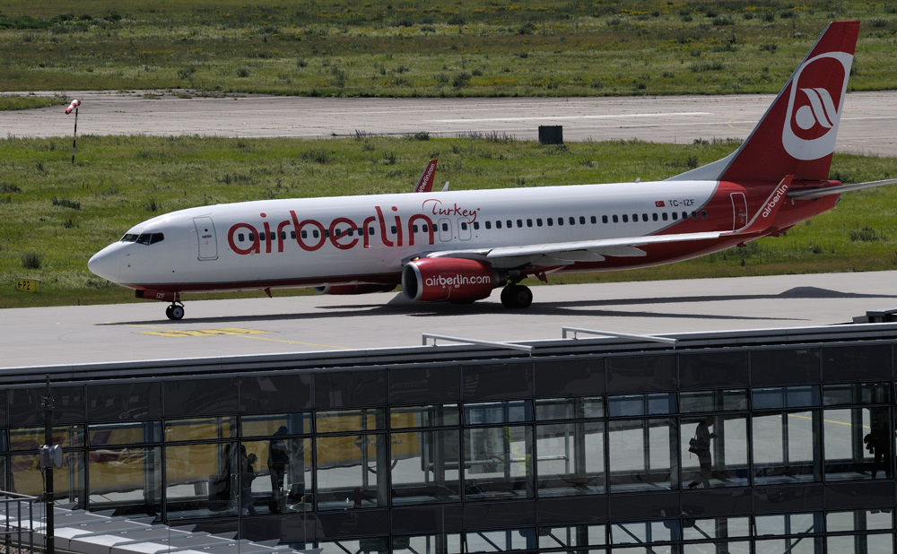
<svg viewBox="0 0 897 554">
<path fill-rule="evenodd" d="M 393 433 L 390 443 L 394 506 L 461 499 L 459 430 Z"/>
</svg>

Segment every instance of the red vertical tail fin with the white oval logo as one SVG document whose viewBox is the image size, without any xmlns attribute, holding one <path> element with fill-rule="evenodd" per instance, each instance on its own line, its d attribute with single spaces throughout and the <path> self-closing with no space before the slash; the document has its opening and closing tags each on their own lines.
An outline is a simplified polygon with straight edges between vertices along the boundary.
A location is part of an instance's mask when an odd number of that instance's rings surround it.
<svg viewBox="0 0 897 554">
<path fill-rule="evenodd" d="M 859 22 L 830 23 L 738 150 L 672 178 L 827 180 L 858 34 Z"/>
</svg>

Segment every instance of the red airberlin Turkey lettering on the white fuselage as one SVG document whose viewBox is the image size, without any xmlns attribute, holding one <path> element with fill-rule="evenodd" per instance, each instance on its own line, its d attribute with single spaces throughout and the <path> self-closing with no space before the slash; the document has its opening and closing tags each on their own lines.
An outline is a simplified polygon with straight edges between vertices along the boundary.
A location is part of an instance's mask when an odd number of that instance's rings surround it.
<svg viewBox="0 0 897 554">
<path fill-rule="evenodd" d="M 425 200 L 422 207 L 424 211 L 432 212 L 433 215 L 457 215 L 467 218 L 467 221 L 471 223 L 475 221 L 476 212 L 478 210 L 462 209 L 459 208 L 457 204 L 452 207 L 443 207 L 440 200 L 436 199 Z M 398 208 L 392 206 L 391 211 L 398 212 Z M 374 212 L 376 212 L 376 215 L 370 215 L 364 218 L 361 223 L 347 217 L 337 217 L 333 221 L 330 221 L 328 225 L 325 225 L 318 220 L 300 220 L 300 216 L 295 210 L 290 210 L 289 219 L 283 219 L 283 221 L 274 223 L 274 221 L 264 221 L 267 218 L 267 214 L 263 212 L 259 214 L 263 220 L 262 229 L 257 229 L 254 225 L 249 223 L 236 223 L 228 230 L 227 240 L 228 244 L 231 246 L 231 250 L 239 255 L 261 254 L 263 247 L 265 248 L 266 254 L 270 254 L 274 249 L 276 249 L 277 252 L 283 252 L 283 244 L 288 240 L 293 240 L 292 237 L 287 238 L 287 229 L 289 229 L 290 231 L 295 232 L 296 243 L 306 252 L 314 252 L 315 250 L 324 247 L 328 241 L 331 245 L 340 250 L 348 250 L 350 248 L 358 247 L 359 245 L 363 248 L 368 248 L 370 247 L 370 232 L 368 232 L 368 228 L 376 224 L 379 227 L 379 238 L 383 243 L 383 246 L 402 247 L 405 246 L 406 243 L 407 246 L 413 247 L 415 238 L 414 229 L 416 229 L 417 224 L 420 223 L 422 225 L 421 229 L 426 233 L 426 238 L 429 239 L 429 244 L 432 245 L 434 243 L 433 233 L 436 229 L 433 229 L 433 221 L 428 215 L 425 215 L 424 213 L 415 213 L 409 217 L 403 225 L 402 217 L 397 213 L 392 214 L 390 221 L 388 219 L 388 214 L 384 214 L 384 211 L 380 206 L 374 206 Z M 403 229 L 403 227 L 406 227 L 407 229 Z M 392 232 L 393 228 L 396 229 L 395 233 Z M 240 229 L 245 230 L 248 234 L 248 247 L 244 248 L 238 245 L 234 240 L 234 236 Z M 352 230 L 351 234 L 349 233 L 350 229 Z M 362 231 L 361 234 L 358 234 L 359 229 Z M 311 232 L 306 232 L 305 237 L 303 237 L 303 230 Z M 405 230 L 407 231 L 407 234 L 405 234 Z M 390 236 L 392 238 L 390 238 Z M 264 237 L 264 239 L 262 237 Z M 405 241 L 405 237 L 407 237 L 407 241 Z M 239 242 L 242 242 L 242 240 Z"/>
</svg>

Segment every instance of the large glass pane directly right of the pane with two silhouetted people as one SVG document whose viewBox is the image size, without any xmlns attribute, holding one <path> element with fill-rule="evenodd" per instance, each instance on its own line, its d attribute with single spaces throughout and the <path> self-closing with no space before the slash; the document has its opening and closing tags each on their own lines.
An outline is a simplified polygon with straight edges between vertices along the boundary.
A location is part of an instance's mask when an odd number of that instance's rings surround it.
<svg viewBox="0 0 897 554">
<path fill-rule="evenodd" d="M 382 435 L 318 437 L 318 509 L 387 506 L 387 440 Z"/>
</svg>

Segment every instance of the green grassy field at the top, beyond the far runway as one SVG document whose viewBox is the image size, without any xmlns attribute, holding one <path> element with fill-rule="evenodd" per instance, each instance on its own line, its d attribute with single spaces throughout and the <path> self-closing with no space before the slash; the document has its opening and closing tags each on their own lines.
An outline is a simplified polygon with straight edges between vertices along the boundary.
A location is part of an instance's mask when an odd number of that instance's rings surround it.
<svg viewBox="0 0 897 554">
<path fill-rule="evenodd" d="M 850 89 L 893 89 L 897 4 L 851 0 L 9 0 L 0 91 L 327 96 L 775 92 L 863 22 Z M 193 92 L 191 92 L 193 93 Z"/>
</svg>

